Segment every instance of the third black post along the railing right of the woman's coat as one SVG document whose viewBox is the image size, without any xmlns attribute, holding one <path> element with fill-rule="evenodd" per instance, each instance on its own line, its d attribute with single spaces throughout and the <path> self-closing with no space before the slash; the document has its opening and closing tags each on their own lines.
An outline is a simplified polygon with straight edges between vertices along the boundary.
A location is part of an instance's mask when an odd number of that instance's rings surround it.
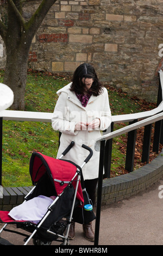
<svg viewBox="0 0 163 256">
<path fill-rule="evenodd" d="M 145 126 L 144 137 L 143 137 L 143 148 L 142 148 L 142 157 L 141 162 L 149 162 L 149 153 L 151 146 L 151 133 L 152 133 L 152 124 Z"/>
</svg>

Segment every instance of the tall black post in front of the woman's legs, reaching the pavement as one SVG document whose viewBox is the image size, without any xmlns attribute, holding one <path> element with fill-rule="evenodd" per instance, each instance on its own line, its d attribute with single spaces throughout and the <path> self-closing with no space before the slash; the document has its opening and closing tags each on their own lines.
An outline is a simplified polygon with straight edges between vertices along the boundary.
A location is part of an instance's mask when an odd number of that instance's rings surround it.
<svg viewBox="0 0 163 256">
<path fill-rule="evenodd" d="M 95 241 L 94 241 L 94 245 L 98 245 L 98 240 L 99 240 L 99 223 L 100 223 L 100 215 L 101 215 L 104 151 L 105 151 L 105 141 L 101 141 L 100 155 L 99 155 L 99 170 L 98 170 L 97 206 L 96 206 L 96 223 L 95 223 Z"/>
</svg>

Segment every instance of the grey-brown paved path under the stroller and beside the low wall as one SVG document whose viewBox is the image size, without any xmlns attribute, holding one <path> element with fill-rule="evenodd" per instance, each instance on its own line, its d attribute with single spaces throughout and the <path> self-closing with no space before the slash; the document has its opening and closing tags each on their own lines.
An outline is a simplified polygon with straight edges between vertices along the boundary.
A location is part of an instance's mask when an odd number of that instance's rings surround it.
<svg viewBox="0 0 163 256">
<path fill-rule="evenodd" d="M 162 186 L 162 193 L 159 187 Z M 110 206 L 102 206 L 99 245 L 163 245 L 163 180 L 136 196 Z M 95 221 L 93 222 L 95 227 Z M 0 224 L 0 228 L 2 224 Z M 23 245 L 23 236 L 4 232 L 1 237 Z M 53 242 L 52 245 L 59 245 Z M 32 241 L 29 243 L 32 245 Z M 93 245 L 76 224 L 70 245 Z"/>
</svg>

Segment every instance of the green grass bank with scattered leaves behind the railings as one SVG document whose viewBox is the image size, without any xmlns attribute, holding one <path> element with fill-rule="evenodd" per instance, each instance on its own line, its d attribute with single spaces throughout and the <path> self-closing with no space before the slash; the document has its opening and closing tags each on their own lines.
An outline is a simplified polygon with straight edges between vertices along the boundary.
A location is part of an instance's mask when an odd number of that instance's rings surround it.
<svg viewBox="0 0 163 256">
<path fill-rule="evenodd" d="M 0 70 L 0 82 L 3 82 Z M 26 111 L 53 112 L 57 102 L 57 90 L 64 87 L 70 78 L 57 77 L 42 72 L 28 72 L 26 86 Z M 112 115 L 129 114 L 155 107 L 152 103 L 142 104 L 127 94 L 108 88 Z M 144 103 L 144 102 L 143 102 Z M 119 129 L 121 125 L 116 125 Z M 58 131 L 53 131 L 51 123 L 3 121 L 2 185 L 4 187 L 31 186 L 29 160 L 33 151 L 56 157 L 58 151 Z M 124 166 L 124 154 L 120 151 L 122 137 L 115 138 L 112 149 L 112 175 L 119 175 L 118 167 Z"/>
</svg>

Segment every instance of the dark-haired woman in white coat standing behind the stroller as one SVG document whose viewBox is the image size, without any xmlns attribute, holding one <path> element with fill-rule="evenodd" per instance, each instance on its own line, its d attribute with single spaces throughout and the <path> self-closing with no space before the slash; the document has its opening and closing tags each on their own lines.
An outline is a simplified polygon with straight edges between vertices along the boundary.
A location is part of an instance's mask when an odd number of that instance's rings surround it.
<svg viewBox="0 0 163 256">
<path fill-rule="evenodd" d="M 59 157 L 74 141 L 74 147 L 63 159 L 81 166 L 88 155 L 82 144 L 93 150 L 93 156 L 83 167 L 84 185 L 93 205 L 96 200 L 98 182 L 99 152 L 95 151 L 96 138 L 111 124 L 111 112 L 106 88 L 102 86 L 92 65 L 84 63 L 74 71 L 72 82 L 58 90 L 57 104 L 52 117 L 52 127 L 61 132 Z M 94 241 L 92 223 L 83 224 L 86 239 Z M 69 232 L 74 238 L 74 223 Z"/>
</svg>

